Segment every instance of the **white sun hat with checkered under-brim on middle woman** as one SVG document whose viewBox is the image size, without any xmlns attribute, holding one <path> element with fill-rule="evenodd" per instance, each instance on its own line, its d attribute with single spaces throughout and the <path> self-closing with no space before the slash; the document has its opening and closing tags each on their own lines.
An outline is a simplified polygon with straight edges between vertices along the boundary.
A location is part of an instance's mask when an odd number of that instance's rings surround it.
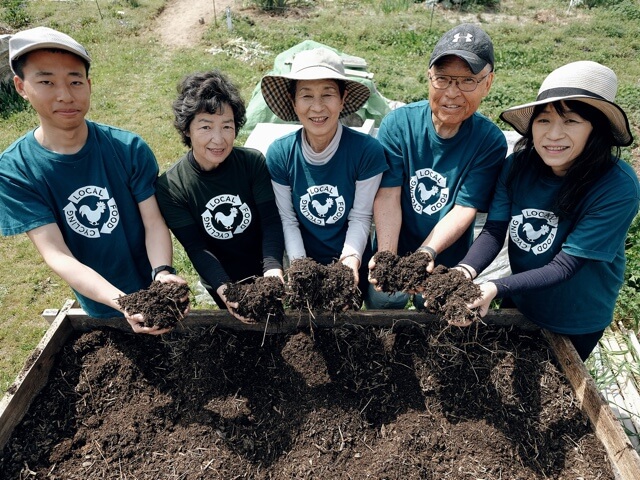
<svg viewBox="0 0 640 480">
<path fill-rule="evenodd" d="M 345 83 L 347 98 L 340 118 L 360 110 L 371 95 L 369 87 L 347 78 L 342 58 L 327 48 L 314 48 L 297 53 L 293 57 L 290 73 L 266 75 L 260 82 L 260 90 L 273 113 L 287 122 L 296 122 L 298 116 L 293 109 L 289 84 L 294 80 L 323 79 L 342 80 Z"/>
</svg>

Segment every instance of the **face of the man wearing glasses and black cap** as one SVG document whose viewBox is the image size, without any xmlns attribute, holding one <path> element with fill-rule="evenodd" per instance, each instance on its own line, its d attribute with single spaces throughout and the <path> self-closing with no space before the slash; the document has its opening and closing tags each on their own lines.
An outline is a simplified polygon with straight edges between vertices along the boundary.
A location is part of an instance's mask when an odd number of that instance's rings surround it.
<svg viewBox="0 0 640 480">
<path fill-rule="evenodd" d="M 429 69 L 429 75 L 451 75 L 454 77 L 473 77 L 480 80 L 472 92 L 463 92 L 456 85 L 456 81 L 444 90 L 439 90 L 429 82 L 429 104 L 431 105 L 433 124 L 439 135 L 449 138 L 455 135 L 462 122 L 473 115 L 480 102 L 487 96 L 493 82 L 491 66 L 487 65 L 480 73 L 474 75 L 469 65 L 464 60 L 456 57 L 445 57 L 440 65 L 434 65 Z M 458 80 L 462 80 L 459 78 Z"/>
</svg>

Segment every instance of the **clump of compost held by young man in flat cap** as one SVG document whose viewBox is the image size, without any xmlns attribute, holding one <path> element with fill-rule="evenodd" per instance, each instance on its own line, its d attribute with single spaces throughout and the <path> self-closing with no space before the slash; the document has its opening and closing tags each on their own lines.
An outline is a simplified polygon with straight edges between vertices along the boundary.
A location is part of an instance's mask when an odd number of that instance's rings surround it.
<svg viewBox="0 0 640 480">
<path fill-rule="evenodd" d="M 129 315 L 142 314 L 145 327 L 173 328 L 184 318 L 189 293 L 187 284 L 154 281 L 149 288 L 116 301 Z"/>
</svg>

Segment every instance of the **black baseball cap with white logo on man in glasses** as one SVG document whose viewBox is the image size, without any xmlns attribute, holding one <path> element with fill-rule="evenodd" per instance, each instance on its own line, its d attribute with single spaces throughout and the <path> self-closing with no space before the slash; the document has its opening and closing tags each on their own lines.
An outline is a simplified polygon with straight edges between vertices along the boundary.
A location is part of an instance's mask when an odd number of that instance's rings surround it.
<svg viewBox="0 0 640 480">
<path fill-rule="evenodd" d="M 455 55 L 467 62 L 474 74 L 480 73 L 487 64 L 493 70 L 493 43 L 484 30 L 471 23 L 452 28 L 438 40 L 431 53 L 429 68 L 448 55 Z"/>
</svg>

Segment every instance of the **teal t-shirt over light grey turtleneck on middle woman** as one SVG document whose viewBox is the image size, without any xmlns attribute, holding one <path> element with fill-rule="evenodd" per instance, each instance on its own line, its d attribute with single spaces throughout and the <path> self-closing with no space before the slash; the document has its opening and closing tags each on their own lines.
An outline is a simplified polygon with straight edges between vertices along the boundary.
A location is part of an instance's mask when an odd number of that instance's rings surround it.
<svg viewBox="0 0 640 480">
<path fill-rule="evenodd" d="M 331 160 L 311 165 L 304 159 L 301 135 L 302 129 L 274 141 L 267 166 L 274 182 L 291 188 L 307 256 L 329 264 L 344 246 L 356 182 L 382 173 L 387 164 L 377 140 L 344 128 Z"/>
</svg>

